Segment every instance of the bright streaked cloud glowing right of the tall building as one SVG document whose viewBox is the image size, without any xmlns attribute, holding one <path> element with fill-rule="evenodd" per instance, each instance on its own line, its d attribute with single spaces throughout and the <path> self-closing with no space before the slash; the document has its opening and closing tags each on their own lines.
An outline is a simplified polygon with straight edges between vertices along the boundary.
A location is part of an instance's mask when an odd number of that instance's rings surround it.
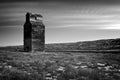
<svg viewBox="0 0 120 80">
<path fill-rule="evenodd" d="M 89 6 L 88 6 L 89 7 Z M 82 9 L 69 14 L 52 15 L 46 22 L 51 28 L 78 28 L 78 29 L 114 29 L 120 30 L 120 6 L 97 6 L 100 9 Z M 95 13 L 94 13 L 95 12 Z M 90 13 L 90 14 L 89 14 Z"/>
</svg>

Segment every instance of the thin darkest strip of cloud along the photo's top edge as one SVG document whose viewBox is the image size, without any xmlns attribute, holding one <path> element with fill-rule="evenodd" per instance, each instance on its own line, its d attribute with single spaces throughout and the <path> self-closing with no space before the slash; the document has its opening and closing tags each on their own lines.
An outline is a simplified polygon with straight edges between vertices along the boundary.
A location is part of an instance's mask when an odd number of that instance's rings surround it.
<svg viewBox="0 0 120 80">
<path fill-rule="evenodd" d="M 120 0 L 0 0 L 0 2 L 67 2 L 67 3 L 119 3 Z"/>
</svg>

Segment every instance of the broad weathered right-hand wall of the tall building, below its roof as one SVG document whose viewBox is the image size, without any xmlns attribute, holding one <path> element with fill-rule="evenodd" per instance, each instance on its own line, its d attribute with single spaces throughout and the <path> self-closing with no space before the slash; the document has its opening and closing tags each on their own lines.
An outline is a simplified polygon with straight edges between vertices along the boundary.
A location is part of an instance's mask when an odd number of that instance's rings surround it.
<svg viewBox="0 0 120 80">
<path fill-rule="evenodd" d="M 32 49 L 35 51 L 44 51 L 45 44 L 45 26 L 39 23 L 32 23 Z"/>
</svg>

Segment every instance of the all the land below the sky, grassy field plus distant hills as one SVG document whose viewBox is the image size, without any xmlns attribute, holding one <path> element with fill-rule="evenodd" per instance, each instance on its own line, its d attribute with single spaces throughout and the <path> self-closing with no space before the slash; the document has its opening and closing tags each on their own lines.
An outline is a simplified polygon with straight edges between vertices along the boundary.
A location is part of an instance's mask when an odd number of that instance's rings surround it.
<svg viewBox="0 0 120 80">
<path fill-rule="evenodd" d="M 87 47 L 86 47 L 87 45 Z M 45 52 L 0 48 L 3 80 L 119 80 L 120 39 L 46 44 Z"/>
</svg>

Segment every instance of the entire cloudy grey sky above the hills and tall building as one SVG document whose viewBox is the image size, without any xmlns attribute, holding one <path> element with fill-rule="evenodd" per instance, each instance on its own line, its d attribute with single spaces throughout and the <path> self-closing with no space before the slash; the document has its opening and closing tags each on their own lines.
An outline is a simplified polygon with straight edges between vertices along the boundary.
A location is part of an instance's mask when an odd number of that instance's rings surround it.
<svg viewBox="0 0 120 80">
<path fill-rule="evenodd" d="M 26 12 L 43 16 L 46 43 L 120 38 L 120 0 L 2 0 L 0 46 L 23 44 Z"/>
</svg>

